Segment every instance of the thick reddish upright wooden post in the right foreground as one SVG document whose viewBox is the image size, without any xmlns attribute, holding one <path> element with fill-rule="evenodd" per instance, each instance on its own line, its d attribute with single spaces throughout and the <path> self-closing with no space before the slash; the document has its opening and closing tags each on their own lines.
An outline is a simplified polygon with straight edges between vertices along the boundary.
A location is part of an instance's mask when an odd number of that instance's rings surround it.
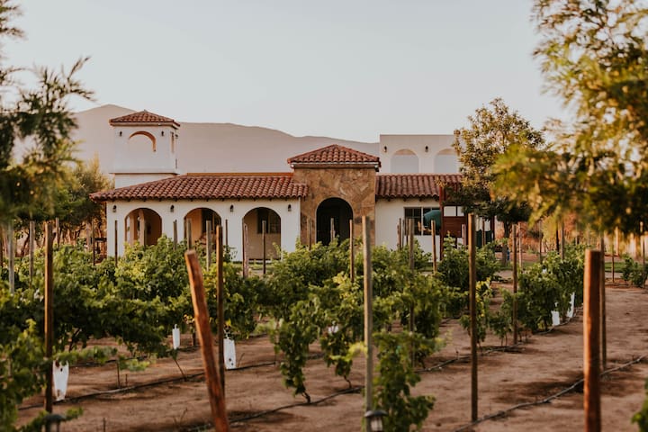
<svg viewBox="0 0 648 432">
<path fill-rule="evenodd" d="M 585 252 L 585 280 L 583 300 L 583 409 L 585 431 L 601 430 L 600 411 L 600 357 L 599 357 L 599 293 L 600 251 Z"/>
</svg>

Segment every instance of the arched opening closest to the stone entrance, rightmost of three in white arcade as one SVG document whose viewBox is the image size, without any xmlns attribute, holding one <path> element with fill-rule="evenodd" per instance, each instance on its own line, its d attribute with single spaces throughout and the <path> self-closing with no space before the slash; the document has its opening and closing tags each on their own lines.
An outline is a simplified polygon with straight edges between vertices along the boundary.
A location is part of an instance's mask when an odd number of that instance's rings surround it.
<svg viewBox="0 0 648 432">
<path fill-rule="evenodd" d="M 266 222 L 264 224 L 264 222 Z M 266 259 L 278 257 L 276 246 L 281 246 L 281 217 L 267 207 L 257 207 L 247 211 L 243 217 L 244 227 L 247 227 L 247 242 L 243 234 L 243 247 L 248 259 L 264 259 L 263 229 L 266 226 Z"/>
</svg>

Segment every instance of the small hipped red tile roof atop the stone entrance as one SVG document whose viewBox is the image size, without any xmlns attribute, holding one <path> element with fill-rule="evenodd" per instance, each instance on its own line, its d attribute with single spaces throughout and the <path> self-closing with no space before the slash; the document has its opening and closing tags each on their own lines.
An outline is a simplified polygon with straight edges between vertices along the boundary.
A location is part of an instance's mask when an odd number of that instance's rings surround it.
<svg viewBox="0 0 648 432">
<path fill-rule="evenodd" d="M 302 167 L 351 167 L 351 166 L 380 166 L 380 158 L 333 144 L 329 147 L 303 153 L 288 159 L 291 166 Z"/>
</svg>

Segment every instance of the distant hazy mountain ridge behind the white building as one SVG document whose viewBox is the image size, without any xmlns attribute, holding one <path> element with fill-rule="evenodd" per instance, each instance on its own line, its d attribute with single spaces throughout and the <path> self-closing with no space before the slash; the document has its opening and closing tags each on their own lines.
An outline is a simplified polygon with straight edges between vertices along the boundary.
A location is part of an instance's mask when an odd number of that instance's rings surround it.
<svg viewBox="0 0 648 432">
<path fill-rule="evenodd" d="M 111 172 L 115 155 L 112 148 L 112 126 L 108 121 L 134 111 L 136 110 L 107 104 L 78 112 L 78 129 L 74 133 L 74 139 L 80 142 L 76 157 L 89 160 L 97 156 L 102 170 L 105 173 Z M 173 112 L 156 113 L 175 118 Z M 293 137 L 281 130 L 232 123 L 175 121 L 181 125 L 178 130 L 177 158 L 178 168 L 183 172 L 289 172 L 291 169 L 286 159 L 330 144 L 340 144 L 378 155 L 378 144 L 375 142 Z"/>
</svg>

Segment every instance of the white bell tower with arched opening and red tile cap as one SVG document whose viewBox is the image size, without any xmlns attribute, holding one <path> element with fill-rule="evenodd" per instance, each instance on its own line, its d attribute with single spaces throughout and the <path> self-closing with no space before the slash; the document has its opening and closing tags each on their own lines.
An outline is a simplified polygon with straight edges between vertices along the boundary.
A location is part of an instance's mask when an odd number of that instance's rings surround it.
<svg viewBox="0 0 648 432">
<path fill-rule="evenodd" d="M 115 187 L 180 174 L 177 169 L 180 124 L 175 120 L 140 111 L 112 119 L 110 124 L 114 131 Z"/>
</svg>

